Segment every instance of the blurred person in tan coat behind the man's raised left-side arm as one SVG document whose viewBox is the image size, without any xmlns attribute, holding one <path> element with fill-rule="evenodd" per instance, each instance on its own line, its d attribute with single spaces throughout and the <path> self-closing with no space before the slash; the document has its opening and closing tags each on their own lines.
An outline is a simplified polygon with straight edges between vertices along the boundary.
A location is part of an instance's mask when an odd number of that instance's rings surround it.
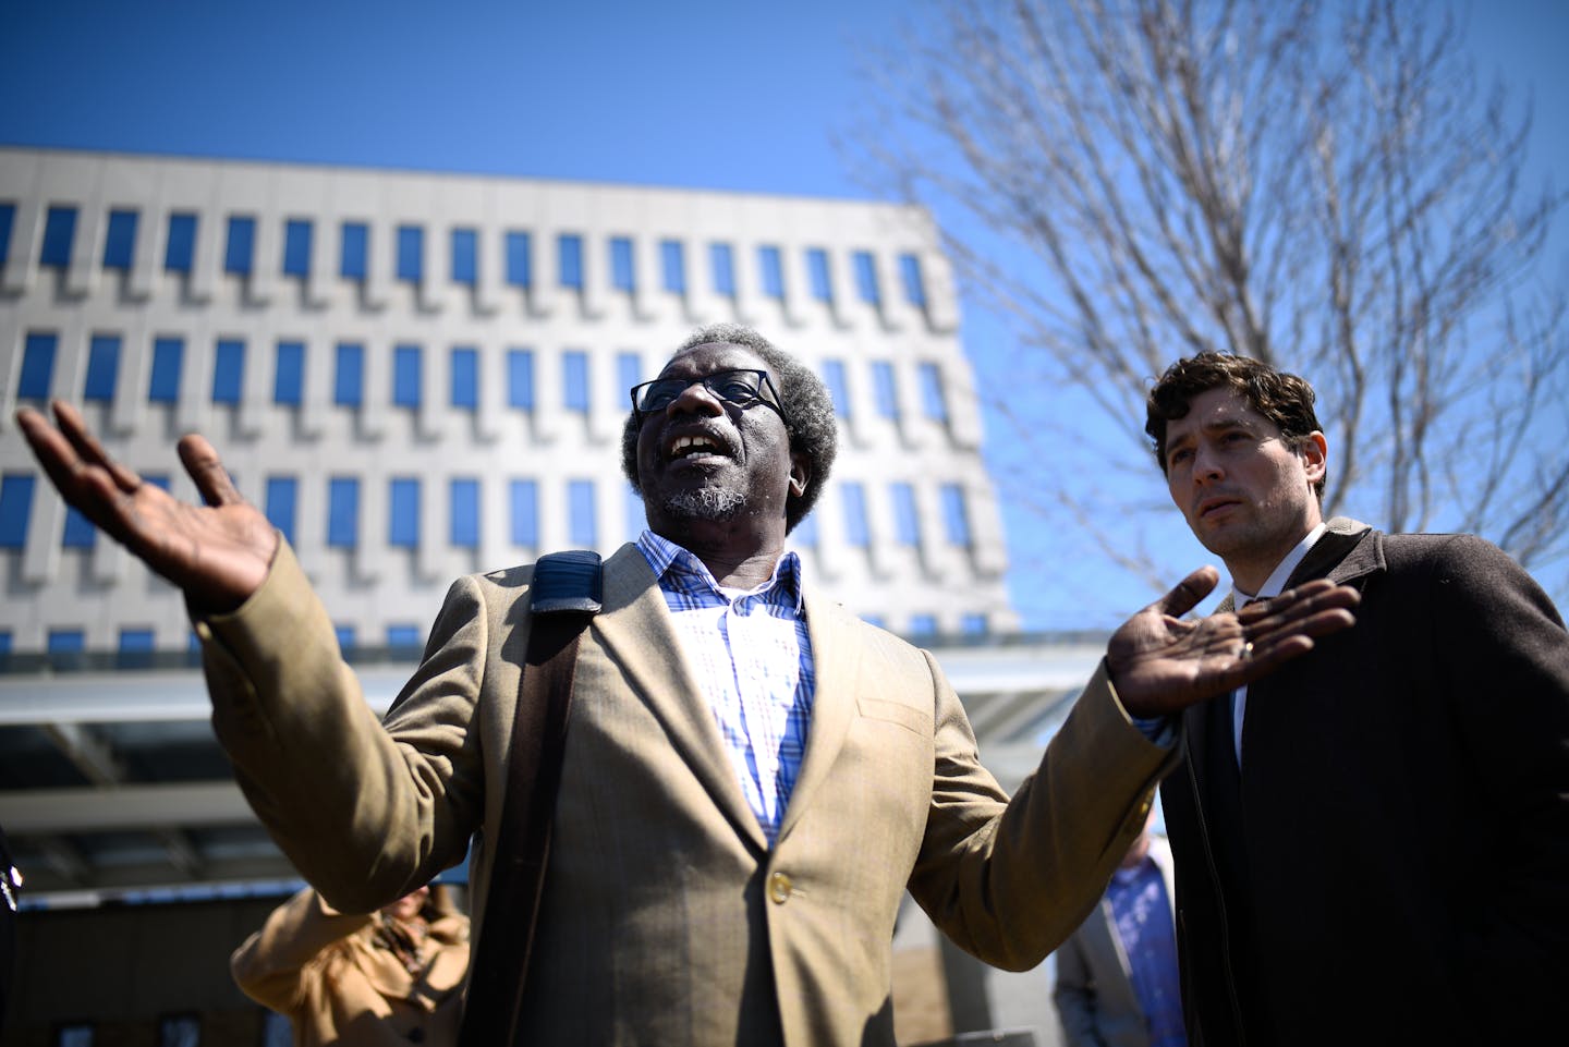
<svg viewBox="0 0 1569 1047">
<path fill-rule="evenodd" d="M 439 884 L 364 915 L 308 887 L 229 958 L 245 995 L 289 1019 L 297 1047 L 453 1044 L 468 969 L 469 920 Z"/>
</svg>

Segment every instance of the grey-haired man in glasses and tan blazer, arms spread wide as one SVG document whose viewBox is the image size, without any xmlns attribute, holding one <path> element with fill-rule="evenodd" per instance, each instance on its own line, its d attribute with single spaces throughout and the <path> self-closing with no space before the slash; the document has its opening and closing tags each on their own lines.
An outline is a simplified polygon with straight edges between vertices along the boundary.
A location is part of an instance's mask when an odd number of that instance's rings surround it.
<svg viewBox="0 0 1569 1047">
<path fill-rule="evenodd" d="M 723 600 L 777 584 L 784 535 L 833 458 L 822 383 L 756 333 L 720 327 L 637 397 L 626 466 L 650 532 L 690 553 Z M 58 430 L 36 411 L 19 418 L 66 499 L 185 590 L 213 727 L 306 879 L 337 909 L 370 910 L 461 860 L 479 832 L 482 928 L 529 570 L 453 584 L 383 725 L 287 545 L 204 440 L 180 441 L 209 505 L 198 509 L 110 461 L 69 407 L 55 414 Z M 1214 578 L 1189 576 L 1117 631 L 1012 801 L 979 764 L 937 662 L 805 587 L 810 730 L 764 832 L 664 579 L 642 543 L 623 548 L 579 655 L 519 1041 L 893 1044 L 890 940 L 905 887 L 963 948 L 1032 967 L 1142 827 L 1174 761 L 1166 717 L 1351 622 L 1354 595 L 1327 582 L 1178 620 Z M 756 741 L 747 758 L 775 755 Z"/>
</svg>

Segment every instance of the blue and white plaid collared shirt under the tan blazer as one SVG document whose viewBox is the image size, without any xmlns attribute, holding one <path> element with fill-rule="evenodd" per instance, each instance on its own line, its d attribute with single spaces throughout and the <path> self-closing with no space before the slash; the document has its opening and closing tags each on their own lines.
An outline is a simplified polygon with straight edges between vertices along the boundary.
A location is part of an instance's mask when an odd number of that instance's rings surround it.
<svg viewBox="0 0 1569 1047">
<path fill-rule="evenodd" d="M 772 846 L 806 750 L 816 691 L 800 559 L 786 553 L 766 584 L 737 592 L 720 589 L 700 559 L 651 531 L 639 535 L 637 549 L 659 579 L 681 650 Z"/>
</svg>

